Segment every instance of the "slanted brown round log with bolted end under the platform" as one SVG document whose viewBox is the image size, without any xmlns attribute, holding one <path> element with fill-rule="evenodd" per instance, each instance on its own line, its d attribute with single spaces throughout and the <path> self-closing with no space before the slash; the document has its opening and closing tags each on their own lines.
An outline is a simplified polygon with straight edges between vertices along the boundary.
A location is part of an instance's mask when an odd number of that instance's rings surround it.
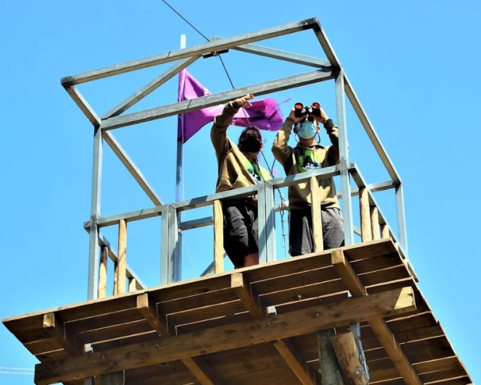
<svg viewBox="0 0 481 385">
<path fill-rule="evenodd" d="M 332 340 L 334 351 L 346 385 L 368 385 L 366 373 L 359 361 L 360 352 L 352 332 L 343 333 Z"/>
</svg>

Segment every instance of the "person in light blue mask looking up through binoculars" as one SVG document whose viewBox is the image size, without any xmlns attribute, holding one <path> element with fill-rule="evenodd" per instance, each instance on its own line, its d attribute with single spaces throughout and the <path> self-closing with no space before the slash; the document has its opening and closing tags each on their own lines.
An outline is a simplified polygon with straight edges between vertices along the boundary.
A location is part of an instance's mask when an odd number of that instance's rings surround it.
<svg viewBox="0 0 481 385">
<path fill-rule="evenodd" d="M 318 123 L 324 125 L 332 145 L 324 147 L 319 144 Z M 287 144 L 292 127 L 298 138 L 295 147 Z M 318 102 L 307 107 L 296 103 L 274 139 L 272 152 L 286 175 L 335 166 L 339 163 L 338 127 L 329 119 Z M 308 182 L 289 186 L 288 195 L 289 254 L 294 257 L 312 253 L 314 251 L 310 210 L 312 199 Z M 324 249 L 344 246 L 344 222 L 332 178 L 319 180 L 319 198 Z"/>
</svg>

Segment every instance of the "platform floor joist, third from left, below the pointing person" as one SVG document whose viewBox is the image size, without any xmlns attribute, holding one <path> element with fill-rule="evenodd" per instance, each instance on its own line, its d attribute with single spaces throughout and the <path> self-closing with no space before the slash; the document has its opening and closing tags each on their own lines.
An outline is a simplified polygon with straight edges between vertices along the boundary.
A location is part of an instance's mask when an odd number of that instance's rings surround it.
<svg viewBox="0 0 481 385">
<path fill-rule="evenodd" d="M 231 287 L 246 309 L 248 309 L 254 317 L 266 317 L 267 307 L 261 303 L 259 296 L 252 292 L 251 285 L 245 275 L 242 273 L 233 273 L 231 275 Z M 289 341 L 277 340 L 274 342 L 274 347 L 303 385 L 313 385 L 315 383 L 314 374 L 309 373 L 305 364 L 306 361 L 296 352 Z"/>
</svg>

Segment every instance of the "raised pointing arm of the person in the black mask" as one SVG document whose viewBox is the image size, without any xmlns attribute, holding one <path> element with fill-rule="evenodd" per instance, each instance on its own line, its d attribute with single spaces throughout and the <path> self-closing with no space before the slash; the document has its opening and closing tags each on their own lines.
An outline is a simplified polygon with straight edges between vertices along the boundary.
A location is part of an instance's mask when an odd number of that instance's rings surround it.
<svg viewBox="0 0 481 385">
<path fill-rule="evenodd" d="M 227 103 L 220 115 L 214 118 L 214 124 L 210 130 L 210 139 L 215 148 L 217 158 L 223 157 L 229 150 L 229 141 L 227 140 L 227 127 L 232 122 L 234 115 L 240 107 L 249 105 L 248 100 L 254 98 L 254 95 L 248 94 L 242 98 L 238 98 Z"/>
</svg>

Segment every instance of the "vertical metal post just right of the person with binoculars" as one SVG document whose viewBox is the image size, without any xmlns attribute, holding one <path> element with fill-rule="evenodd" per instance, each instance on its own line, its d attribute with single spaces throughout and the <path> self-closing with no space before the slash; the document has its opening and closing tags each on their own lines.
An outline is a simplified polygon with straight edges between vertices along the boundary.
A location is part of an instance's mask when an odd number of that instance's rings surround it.
<svg viewBox="0 0 481 385">
<path fill-rule="evenodd" d="M 347 164 L 349 162 L 349 145 L 346 125 L 346 99 L 344 92 L 344 72 L 340 71 L 336 78 L 337 125 L 339 129 L 339 158 L 341 166 L 341 192 L 344 219 L 344 242 L 354 243 L 352 222 L 351 182 Z"/>
</svg>

